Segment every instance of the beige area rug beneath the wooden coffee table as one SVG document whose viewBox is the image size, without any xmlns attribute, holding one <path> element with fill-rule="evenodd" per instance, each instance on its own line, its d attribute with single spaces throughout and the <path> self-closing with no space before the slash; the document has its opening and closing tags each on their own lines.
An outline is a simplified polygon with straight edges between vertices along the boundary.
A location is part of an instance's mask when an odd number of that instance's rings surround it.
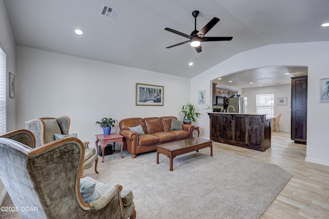
<svg viewBox="0 0 329 219">
<path fill-rule="evenodd" d="M 169 158 L 156 152 L 105 156 L 84 176 L 134 193 L 137 218 L 260 218 L 293 176 L 277 165 L 210 148 Z M 5 198 L 8 199 L 8 196 Z M 8 200 L 7 200 L 8 203 Z M 1 218 L 5 217 L 0 212 Z M 8 215 L 7 215 L 8 216 Z"/>
</svg>

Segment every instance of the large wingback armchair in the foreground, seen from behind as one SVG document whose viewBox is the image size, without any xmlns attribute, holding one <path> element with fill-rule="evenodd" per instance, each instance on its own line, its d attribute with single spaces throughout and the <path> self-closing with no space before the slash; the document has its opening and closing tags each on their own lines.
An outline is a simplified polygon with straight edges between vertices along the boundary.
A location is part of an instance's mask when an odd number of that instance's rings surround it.
<svg viewBox="0 0 329 219">
<path fill-rule="evenodd" d="M 33 148 L 33 138 L 26 130 L 0 136 L 0 178 L 21 218 L 136 217 L 131 191 L 81 178 L 85 148 L 79 139 L 65 137 Z M 96 200 L 84 201 L 83 181 L 93 184 Z"/>
</svg>

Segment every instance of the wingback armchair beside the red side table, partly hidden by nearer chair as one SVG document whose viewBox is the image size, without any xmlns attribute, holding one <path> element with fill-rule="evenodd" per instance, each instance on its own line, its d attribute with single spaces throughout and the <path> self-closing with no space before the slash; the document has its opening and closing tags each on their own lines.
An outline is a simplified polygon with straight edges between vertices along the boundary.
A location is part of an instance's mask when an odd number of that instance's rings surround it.
<svg viewBox="0 0 329 219">
<path fill-rule="evenodd" d="M 26 129 L 35 136 L 35 147 L 40 147 L 46 143 L 56 140 L 54 135 L 69 135 L 68 129 L 70 119 L 67 116 L 56 118 L 32 119 L 25 122 Z M 95 148 L 89 148 L 89 141 L 83 142 L 85 147 L 85 157 L 83 161 L 82 172 L 92 168 L 95 160 L 95 172 L 97 171 L 98 155 Z"/>
</svg>

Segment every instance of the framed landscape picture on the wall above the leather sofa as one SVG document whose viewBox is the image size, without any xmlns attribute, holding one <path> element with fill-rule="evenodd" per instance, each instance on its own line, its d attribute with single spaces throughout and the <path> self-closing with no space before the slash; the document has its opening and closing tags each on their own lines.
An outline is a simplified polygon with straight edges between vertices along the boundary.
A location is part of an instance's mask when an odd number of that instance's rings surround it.
<svg viewBox="0 0 329 219">
<path fill-rule="evenodd" d="M 136 106 L 163 106 L 163 86 L 136 83 Z"/>
</svg>

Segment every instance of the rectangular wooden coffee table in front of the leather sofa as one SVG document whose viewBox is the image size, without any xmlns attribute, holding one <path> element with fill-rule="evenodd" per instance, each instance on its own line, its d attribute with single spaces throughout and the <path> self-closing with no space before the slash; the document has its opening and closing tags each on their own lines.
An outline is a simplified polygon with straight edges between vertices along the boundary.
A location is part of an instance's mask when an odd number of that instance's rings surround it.
<svg viewBox="0 0 329 219">
<path fill-rule="evenodd" d="M 198 152 L 199 149 L 210 147 L 210 156 L 212 156 L 212 141 L 203 138 L 191 138 L 171 143 L 159 144 L 156 150 L 156 163 L 159 163 L 159 154 L 164 154 L 170 159 L 170 171 L 173 171 L 173 159 L 177 155 Z"/>
</svg>

